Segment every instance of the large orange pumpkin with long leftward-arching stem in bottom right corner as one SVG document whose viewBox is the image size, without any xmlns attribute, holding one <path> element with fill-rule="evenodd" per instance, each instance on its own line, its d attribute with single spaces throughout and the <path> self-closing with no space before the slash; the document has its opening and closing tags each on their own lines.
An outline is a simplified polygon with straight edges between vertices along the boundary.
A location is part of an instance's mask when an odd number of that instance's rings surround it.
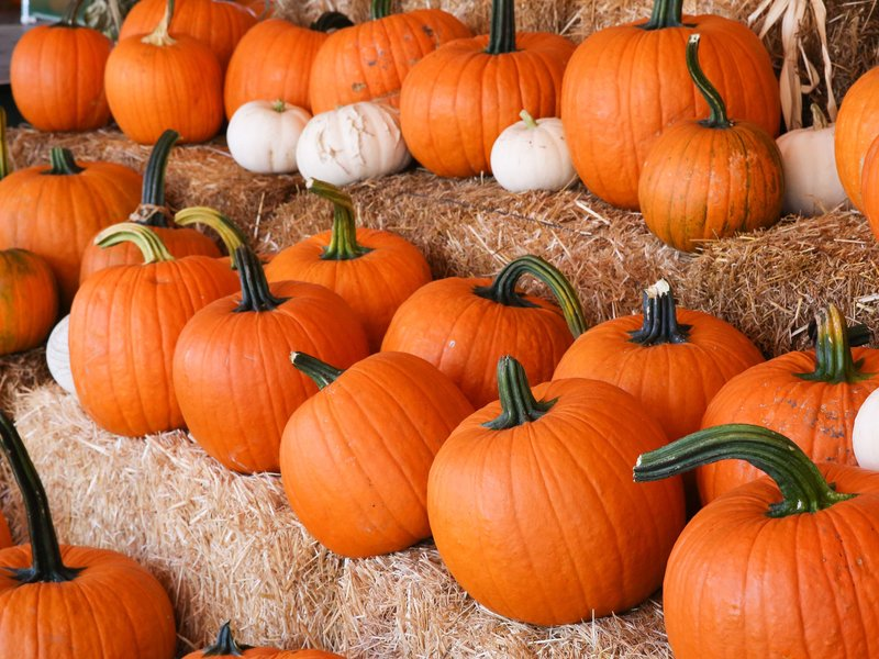
<svg viewBox="0 0 879 659">
<path fill-rule="evenodd" d="M 726 425 L 642 456 L 635 479 L 728 458 L 770 478 L 705 506 L 675 544 L 663 584 L 675 657 L 879 656 L 879 474 L 815 467 L 782 435 Z"/>
</svg>

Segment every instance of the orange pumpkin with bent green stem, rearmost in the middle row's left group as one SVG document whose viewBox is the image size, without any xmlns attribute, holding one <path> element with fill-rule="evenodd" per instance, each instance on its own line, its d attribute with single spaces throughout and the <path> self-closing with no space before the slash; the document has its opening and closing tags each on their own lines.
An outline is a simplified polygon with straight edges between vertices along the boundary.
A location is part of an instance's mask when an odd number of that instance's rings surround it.
<svg viewBox="0 0 879 659">
<path fill-rule="evenodd" d="M 431 280 L 431 267 L 397 234 L 357 228 L 351 196 L 335 186 L 310 179 L 308 189 L 333 202 L 333 228 L 282 249 L 266 267 L 266 277 L 335 291 L 360 319 L 370 349 L 378 350 L 397 309 Z"/>
</svg>

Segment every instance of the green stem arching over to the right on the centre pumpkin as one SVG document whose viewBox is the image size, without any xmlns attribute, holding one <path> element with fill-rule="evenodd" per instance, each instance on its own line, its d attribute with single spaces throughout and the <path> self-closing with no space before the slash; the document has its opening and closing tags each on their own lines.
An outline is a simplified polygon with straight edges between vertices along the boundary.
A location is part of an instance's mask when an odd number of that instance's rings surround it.
<svg viewBox="0 0 879 659">
<path fill-rule="evenodd" d="M 474 293 L 507 306 L 536 306 L 516 291 L 515 287 L 523 275 L 531 275 L 549 287 L 556 302 L 561 308 L 561 313 L 565 314 L 565 321 L 567 321 L 574 338 L 586 332 L 583 308 L 580 305 L 577 291 L 558 268 L 538 256 L 526 254 L 511 260 L 498 272 L 491 286 L 478 286 L 474 289 Z"/>
</svg>

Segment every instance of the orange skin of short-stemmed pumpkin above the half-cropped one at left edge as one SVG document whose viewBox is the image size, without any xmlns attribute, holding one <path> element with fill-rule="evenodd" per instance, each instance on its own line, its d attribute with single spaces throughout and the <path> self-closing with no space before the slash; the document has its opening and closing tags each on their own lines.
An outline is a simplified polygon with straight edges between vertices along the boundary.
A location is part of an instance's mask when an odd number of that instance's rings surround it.
<svg viewBox="0 0 879 659">
<path fill-rule="evenodd" d="M 57 149 L 53 164 L 71 164 Z M 29 167 L 0 181 L 0 249 L 20 247 L 43 257 L 69 309 L 79 288 L 82 252 L 101 228 L 137 208 L 141 176 L 115 163 L 77 163 L 76 172 L 48 175 L 55 167 Z"/>
</svg>

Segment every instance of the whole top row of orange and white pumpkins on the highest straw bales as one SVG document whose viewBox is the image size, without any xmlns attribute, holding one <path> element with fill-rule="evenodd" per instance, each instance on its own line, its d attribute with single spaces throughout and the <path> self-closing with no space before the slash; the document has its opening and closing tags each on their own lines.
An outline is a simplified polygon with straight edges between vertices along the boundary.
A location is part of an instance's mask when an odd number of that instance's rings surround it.
<svg viewBox="0 0 879 659">
<path fill-rule="evenodd" d="M 847 194 L 879 223 L 879 187 L 867 180 L 879 178 L 879 141 L 865 158 L 879 136 L 879 74 L 846 97 L 835 157 L 833 129 L 815 120 L 785 136 L 782 172 L 766 49 L 736 21 L 683 16 L 681 0 L 655 0 L 648 21 L 601 30 L 577 48 L 556 34 L 516 34 L 513 0 L 493 0 L 490 34 L 477 37 L 442 10 L 393 14 L 389 0 L 374 0 L 360 25 L 330 12 L 310 29 L 257 22 L 218 0 L 176 0 L 177 9 L 141 0 L 113 48 L 75 26 L 79 2 L 13 53 L 15 101 L 41 130 L 94 129 L 112 111 L 135 142 L 152 144 L 167 127 L 201 142 L 225 112 L 244 166 L 298 165 L 336 185 L 397 171 L 410 152 L 439 176 L 494 171 L 512 190 L 560 188 L 576 168 L 593 193 L 641 209 L 654 233 L 686 250 L 777 222 L 786 180 L 790 212 L 828 210 Z M 704 72 L 696 45 L 685 57 L 694 33 Z M 522 112 L 515 146 L 492 155 Z"/>
</svg>

